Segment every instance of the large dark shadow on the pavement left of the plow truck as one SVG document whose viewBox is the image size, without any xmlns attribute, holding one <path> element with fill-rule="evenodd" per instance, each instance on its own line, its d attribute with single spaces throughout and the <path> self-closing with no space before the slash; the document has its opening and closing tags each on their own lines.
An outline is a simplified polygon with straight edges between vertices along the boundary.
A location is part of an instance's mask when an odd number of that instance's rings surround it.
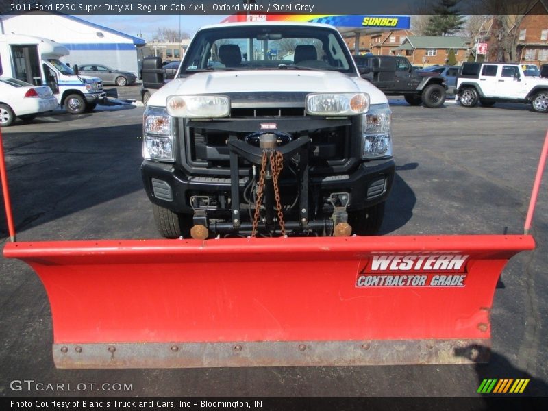
<svg viewBox="0 0 548 411">
<path fill-rule="evenodd" d="M 141 134 L 140 124 L 4 134 L 16 231 L 143 190 Z"/>
</svg>

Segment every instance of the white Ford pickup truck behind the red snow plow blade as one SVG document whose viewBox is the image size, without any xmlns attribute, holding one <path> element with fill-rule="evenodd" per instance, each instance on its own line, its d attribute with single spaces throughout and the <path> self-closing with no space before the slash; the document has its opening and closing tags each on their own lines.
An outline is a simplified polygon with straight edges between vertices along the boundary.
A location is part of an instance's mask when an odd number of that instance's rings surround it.
<svg viewBox="0 0 548 411">
<path fill-rule="evenodd" d="M 203 27 L 175 79 L 143 62 L 142 178 L 167 238 L 374 234 L 391 111 L 329 25 Z"/>
</svg>

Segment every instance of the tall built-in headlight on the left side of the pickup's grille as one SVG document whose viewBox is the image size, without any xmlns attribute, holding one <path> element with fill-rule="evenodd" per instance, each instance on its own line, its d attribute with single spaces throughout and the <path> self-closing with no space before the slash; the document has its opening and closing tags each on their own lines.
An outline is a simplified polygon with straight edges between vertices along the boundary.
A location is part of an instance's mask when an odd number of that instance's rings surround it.
<svg viewBox="0 0 548 411">
<path fill-rule="evenodd" d="M 145 160 L 175 160 L 171 118 L 164 108 L 147 106 L 142 133 L 142 157 Z"/>
</svg>

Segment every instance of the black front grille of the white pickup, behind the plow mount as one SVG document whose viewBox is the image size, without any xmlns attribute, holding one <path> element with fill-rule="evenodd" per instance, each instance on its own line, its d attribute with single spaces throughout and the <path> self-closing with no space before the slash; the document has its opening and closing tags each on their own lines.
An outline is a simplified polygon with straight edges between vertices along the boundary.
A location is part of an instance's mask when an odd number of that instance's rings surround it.
<svg viewBox="0 0 548 411">
<path fill-rule="evenodd" d="M 351 151 L 359 148 L 361 121 L 356 118 L 325 119 L 308 116 L 306 92 L 227 93 L 231 114 L 226 119 L 179 121 L 180 155 L 188 173 L 194 175 L 230 174 L 228 141 L 245 140 L 259 132 L 264 123 L 275 125 L 277 132 L 290 134 L 293 140 L 308 136 L 310 173 L 332 175 L 345 172 L 354 162 Z M 358 142 L 356 147 L 353 142 Z M 354 147 L 354 148 L 353 148 Z M 246 167 L 247 166 L 247 167 Z M 251 164 L 240 159 L 242 176 Z"/>
</svg>

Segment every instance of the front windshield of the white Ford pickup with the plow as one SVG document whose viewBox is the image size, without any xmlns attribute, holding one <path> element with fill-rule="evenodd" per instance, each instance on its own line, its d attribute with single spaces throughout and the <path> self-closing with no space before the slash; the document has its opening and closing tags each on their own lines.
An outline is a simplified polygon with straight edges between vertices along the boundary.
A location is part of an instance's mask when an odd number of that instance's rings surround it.
<svg viewBox="0 0 548 411">
<path fill-rule="evenodd" d="M 312 69 L 354 73 L 338 32 L 327 27 L 220 27 L 198 32 L 180 75 L 196 71 Z"/>
</svg>

